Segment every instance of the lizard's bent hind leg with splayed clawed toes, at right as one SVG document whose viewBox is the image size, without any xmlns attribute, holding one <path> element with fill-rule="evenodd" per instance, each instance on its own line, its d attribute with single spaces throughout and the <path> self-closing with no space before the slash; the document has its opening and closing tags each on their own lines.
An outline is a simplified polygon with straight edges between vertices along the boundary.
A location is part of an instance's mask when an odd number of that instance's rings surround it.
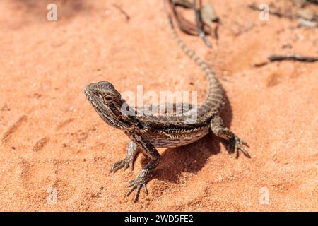
<svg viewBox="0 0 318 226">
<path fill-rule="evenodd" d="M 241 138 L 235 135 L 230 129 L 223 126 L 223 120 L 221 117 L 216 116 L 211 119 L 210 122 L 211 130 L 212 132 L 220 137 L 225 139 L 225 141 L 228 141 L 228 152 L 229 153 L 235 153 L 235 157 L 238 157 L 239 150 L 242 151 L 242 153 L 246 157 L 251 157 L 247 150 L 245 149 L 245 146 L 248 147 L 247 143 L 243 141 Z"/>
</svg>

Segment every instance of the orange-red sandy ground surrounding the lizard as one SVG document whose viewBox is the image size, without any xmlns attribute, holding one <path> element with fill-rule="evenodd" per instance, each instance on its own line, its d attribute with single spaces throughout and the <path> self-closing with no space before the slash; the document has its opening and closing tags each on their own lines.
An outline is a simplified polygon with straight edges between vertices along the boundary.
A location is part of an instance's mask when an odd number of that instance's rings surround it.
<svg viewBox="0 0 318 226">
<path fill-rule="evenodd" d="M 110 173 L 128 138 L 103 123 L 83 88 L 107 80 L 121 92 L 197 90 L 202 100 L 206 79 L 172 40 L 162 1 L 56 1 L 57 22 L 41 2 L 0 2 L 0 210 L 318 210 L 318 66 L 252 66 L 270 54 L 317 55 L 317 29 L 260 21 L 248 0 L 211 1 L 222 21 L 213 49 L 181 36 L 218 73 L 231 106 L 223 117 L 252 159 L 236 160 L 211 136 L 162 148 L 149 195 L 134 203 L 126 185 L 146 158 Z M 47 203 L 50 188 L 56 204 Z"/>
</svg>

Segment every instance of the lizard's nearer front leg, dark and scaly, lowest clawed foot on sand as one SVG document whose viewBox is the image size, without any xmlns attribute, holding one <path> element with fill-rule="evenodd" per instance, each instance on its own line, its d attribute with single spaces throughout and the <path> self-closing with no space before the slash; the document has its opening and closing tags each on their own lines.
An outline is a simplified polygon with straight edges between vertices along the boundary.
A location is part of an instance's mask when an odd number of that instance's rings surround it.
<svg viewBox="0 0 318 226">
<path fill-rule="evenodd" d="M 148 182 L 148 179 L 151 176 L 151 172 L 155 167 L 157 167 L 159 160 L 160 160 L 160 154 L 158 153 L 158 150 L 155 149 L 155 147 L 151 144 L 151 142 L 147 141 L 145 138 L 142 138 L 139 135 L 134 135 L 134 142 L 141 148 L 141 151 L 144 155 L 147 155 L 151 158 L 150 162 L 141 170 L 140 174 L 136 179 L 131 179 L 129 182 L 129 191 L 126 193 L 126 196 L 129 196 L 131 192 L 133 192 L 136 189 L 136 194 L 134 197 L 134 202 L 138 200 L 139 193 L 141 188 L 145 189 L 146 194 L 148 194 L 148 190 L 146 187 L 146 184 Z"/>
</svg>

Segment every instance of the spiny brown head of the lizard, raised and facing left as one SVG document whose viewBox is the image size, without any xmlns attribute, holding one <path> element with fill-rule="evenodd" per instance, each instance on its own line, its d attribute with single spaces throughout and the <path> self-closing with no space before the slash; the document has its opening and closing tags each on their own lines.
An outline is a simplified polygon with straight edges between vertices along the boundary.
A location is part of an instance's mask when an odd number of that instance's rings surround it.
<svg viewBox="0 0 318 226">
<path fill-rule="evenodd" d="M 122 95 L 114 88 L 114 85 L 107 81 L 90 83 L 84 89 L 84 93 L 107 124 L 119 129 L 131 126 L 134 121 L 131 115 L 134 115 L 134 111 L 122 99 Z"/>
</svg>

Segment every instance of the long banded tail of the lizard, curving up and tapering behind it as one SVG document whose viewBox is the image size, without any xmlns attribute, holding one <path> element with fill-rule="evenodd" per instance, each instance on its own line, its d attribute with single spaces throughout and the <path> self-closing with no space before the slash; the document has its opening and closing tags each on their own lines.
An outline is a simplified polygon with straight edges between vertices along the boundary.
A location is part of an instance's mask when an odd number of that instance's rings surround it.
<svg viewBox="0 0 318 226">
<path fill-rule="evenodd" d="M 208 64 L 206 64 L 203 59 L 196 55 L 194 51 L 189 49 L 180 39 L 169 15 L 167 15 L 167 20 L 170 32 L 172 33 L 174 40 L 177 42 L 179 47 L 181 47 L 183 52 L 201 67 L 201 69 L 206 74 L 206 77 L 208 78 L 208 95 L 206 96 L 204 102 L 199 105 L 198 114 L 204 115 L 218 113 L 224 104 L 222 85 L 218 81 L 218 78 L 216 78 L 216 75 L 212 72 L 210 66 L 208 66 Z"/>
</svg>

